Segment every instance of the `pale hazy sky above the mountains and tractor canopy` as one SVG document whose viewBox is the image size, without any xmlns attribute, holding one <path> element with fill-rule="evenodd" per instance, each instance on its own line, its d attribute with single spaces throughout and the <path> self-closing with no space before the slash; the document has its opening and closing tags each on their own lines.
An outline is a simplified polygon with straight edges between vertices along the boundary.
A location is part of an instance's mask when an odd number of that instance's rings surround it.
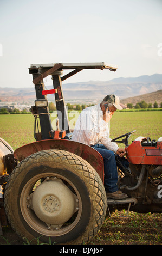
<svg viewBox="0 0 162 256">
<path fill-rule="evenodd" d="M 30 64 L 41 63 L 118 66 L 63 83 L 162 74 L 161 31 L 162 0 L 0 0 L 0 87 L 33 87 Z"/>
</svg>

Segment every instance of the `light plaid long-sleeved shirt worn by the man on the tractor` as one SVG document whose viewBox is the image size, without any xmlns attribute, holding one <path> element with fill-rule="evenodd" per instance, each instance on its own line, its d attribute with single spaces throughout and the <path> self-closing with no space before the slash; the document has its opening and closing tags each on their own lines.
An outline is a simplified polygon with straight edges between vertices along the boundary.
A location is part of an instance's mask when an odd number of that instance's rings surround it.
<svg viewBox="0 0 162 256">
<path fill-rule="evenodd" d="M 109 138 L 109 127 L 106 121 L 103 120 L 100 104 L 83 109 L 76 121 L 72 140 L 89 146 L 100 143 L 114 153 L 119 148 Z"/>
</svg>

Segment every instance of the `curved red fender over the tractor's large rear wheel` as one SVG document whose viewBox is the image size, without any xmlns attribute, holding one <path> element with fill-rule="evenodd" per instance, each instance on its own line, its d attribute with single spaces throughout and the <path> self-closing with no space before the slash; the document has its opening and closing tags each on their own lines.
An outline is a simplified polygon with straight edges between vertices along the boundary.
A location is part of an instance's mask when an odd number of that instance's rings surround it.
<svg viewBox="0 0 162 256">
<path fill-rule="evenodd" d="M 104 166 L 102 156 L 94 148 L 80 142 L 69 139 L 45 139 L 43 141 L 36 141 L 17 148 L 14 152 L 14 157 L 21 162 L 26 157 L 38 151 L 48 149 L 65 150 L 82 157 L 82 159 L 86 160 L 96 170 L 103 182 Z"/>
</svg>

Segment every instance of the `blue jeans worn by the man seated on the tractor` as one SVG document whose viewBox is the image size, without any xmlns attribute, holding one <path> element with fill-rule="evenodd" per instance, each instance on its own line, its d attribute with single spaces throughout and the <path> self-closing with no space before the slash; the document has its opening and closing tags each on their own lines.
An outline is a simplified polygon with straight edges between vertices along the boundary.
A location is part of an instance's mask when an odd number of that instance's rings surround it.
<svg viewBox="0 0 162 256">
<path fill-rule="evenodd" d="M 104 162 L 104 186 L 105 190 L 108 193 L 113 193 L 115 191 L 118 191 L 118 173 L 117 173 L 117 166 L 116 166 L 116 160 L 115 160 L 115 154 L 113 151 L 108 150 L 104 145 L 102 144 L 95 144 L 92 146 L 95 150 L 97 150 L 100 155 L 103 158 Z M 127 168 L 129 166 L 128 161 L 125 159 L 125 157 L 119 157 L 121 160 L 122 165 Z"/>
</svg>

